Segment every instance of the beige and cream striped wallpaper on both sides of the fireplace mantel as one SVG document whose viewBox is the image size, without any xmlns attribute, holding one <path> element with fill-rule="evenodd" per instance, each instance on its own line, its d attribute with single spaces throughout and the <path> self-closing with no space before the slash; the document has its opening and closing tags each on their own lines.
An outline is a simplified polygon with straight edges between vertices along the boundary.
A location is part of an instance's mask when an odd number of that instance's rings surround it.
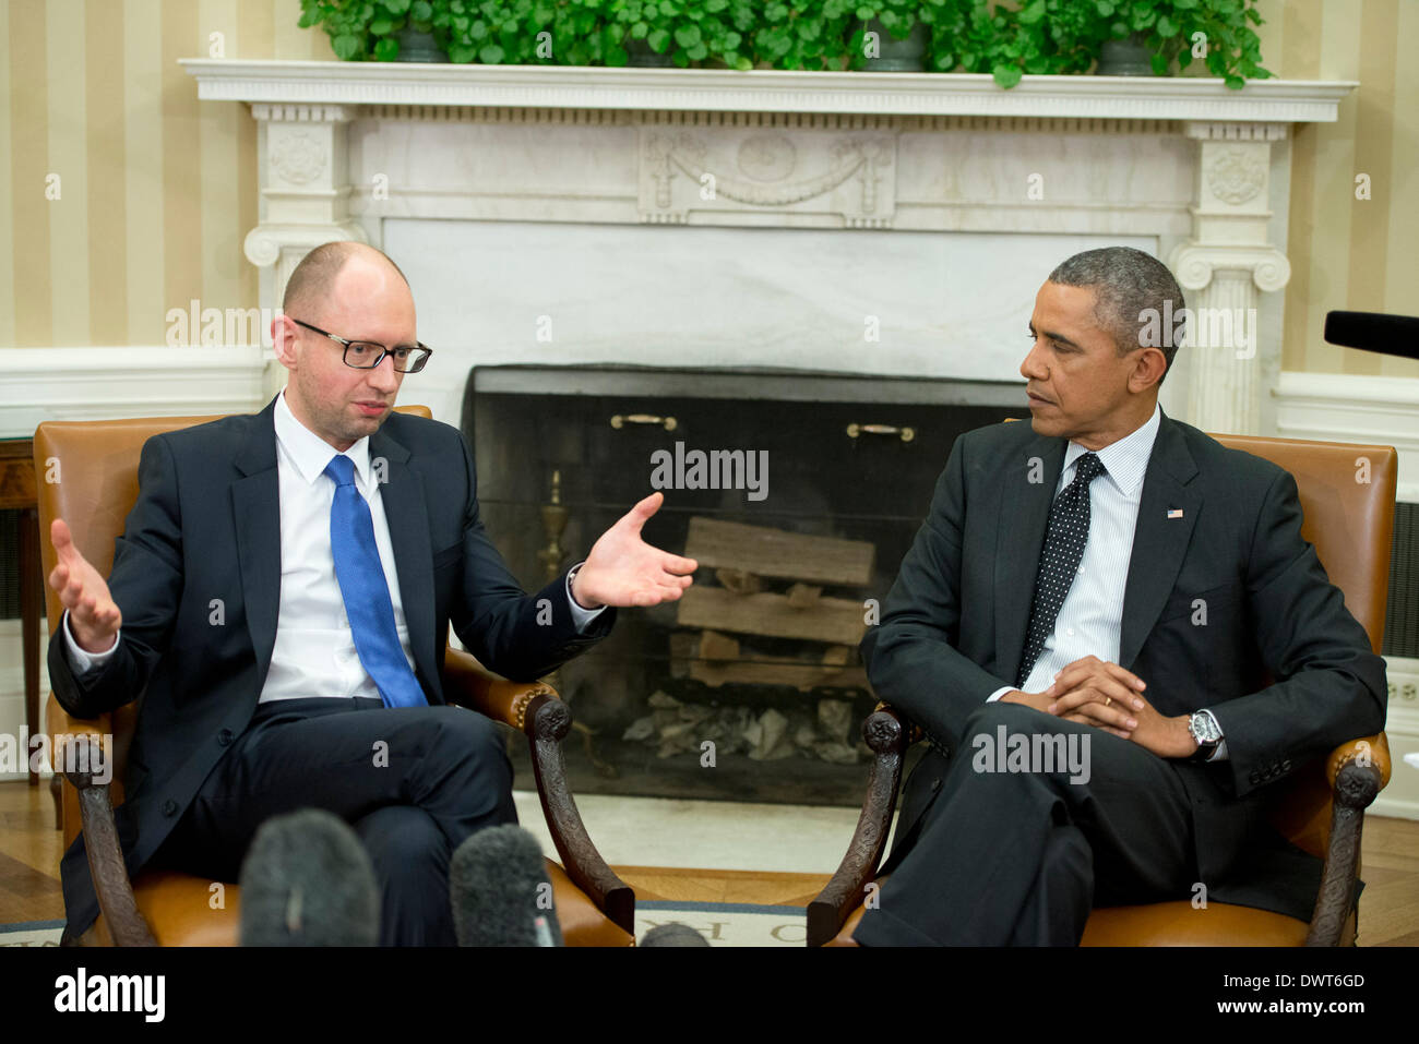
<svg viewBox="0 0 1419 1044">
<path fill-rule="evenodd" d="M 1401 60 L 1419 54 L 1419 0 L 1259 9 L 1271 71 L 1362 84 L 1340 122 L 1294 135 L 1283 366 L 1419 377 L 1321 338 L 1332 308 L 1419 313 L 1419 62 Z M 299 0 L 0 1 L 0 346 L 160 345 L 192 298 L 257 305 L 255 125 L 199 102 L 177 58 L 220 33 L 226 57 L 333 60 L 298 17 Z"/>
</svg>

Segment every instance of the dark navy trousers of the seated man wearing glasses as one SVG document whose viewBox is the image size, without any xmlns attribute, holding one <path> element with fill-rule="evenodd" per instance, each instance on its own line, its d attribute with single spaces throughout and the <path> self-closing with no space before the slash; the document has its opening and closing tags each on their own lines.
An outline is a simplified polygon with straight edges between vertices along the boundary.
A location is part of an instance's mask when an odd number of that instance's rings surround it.
<svg viewBox="0 0 1419 1044">
<path fill-rule="evenodd" d="M 474 711 L 275 701 L 213 769 L 160 860 L 236 881 L 261 823 L 307 807 L 339 816 L 365 841 L 385 892 L 380 942 L 394 945 L 454 943 L 453 851 L 518 818 L 502 739 Z"/>
</svg>

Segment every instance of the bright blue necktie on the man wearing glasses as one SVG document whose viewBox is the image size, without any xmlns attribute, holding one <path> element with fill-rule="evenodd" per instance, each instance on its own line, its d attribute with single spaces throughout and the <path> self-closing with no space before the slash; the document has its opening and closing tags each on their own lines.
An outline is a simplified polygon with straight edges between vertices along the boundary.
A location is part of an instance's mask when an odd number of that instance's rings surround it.
<svg viewBox="0 0 1419 1044">
<path fill-rule="evenodd" d="M 375 545 L 375 523 L 369 505 L 355 488 L 355 462 L 336 454 L 325 465 L 325 474 L 335 479 L 331 553 L 359 661 L 379 687 L 385 706 L 427 706 L 424 691 L 399 645 L 394 604 L 389 600 L 389 584 Z"/>
</svg>

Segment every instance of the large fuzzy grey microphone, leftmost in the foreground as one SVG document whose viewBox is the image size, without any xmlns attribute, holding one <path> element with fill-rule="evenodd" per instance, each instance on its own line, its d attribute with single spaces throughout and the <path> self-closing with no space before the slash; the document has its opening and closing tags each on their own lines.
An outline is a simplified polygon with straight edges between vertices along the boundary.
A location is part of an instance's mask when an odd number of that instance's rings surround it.
<svg viewBox="0 0 1419 1044">
<path fill-rule="evenodd" d="M 263 823 L 241 864 L 241 945 L 377 943 L 375 867 L 355 831 L 321 809 Z"/>
</svg>

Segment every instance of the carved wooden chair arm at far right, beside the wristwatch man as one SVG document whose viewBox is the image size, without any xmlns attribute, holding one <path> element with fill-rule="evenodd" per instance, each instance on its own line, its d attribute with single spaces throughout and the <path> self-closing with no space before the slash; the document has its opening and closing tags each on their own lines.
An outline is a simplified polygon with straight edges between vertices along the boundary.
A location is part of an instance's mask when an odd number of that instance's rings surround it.
<svg viewBox="0 0 1419 1044">
<path fill-rule="evenodd" d="M 1345 922 L 1355 909 L 1365 809 L 1389 782 L 1389 742 L 1385 733 L 1335 748 L 1325 760 L 1325 777 L 1334 799 L 1331 833 L 1321 889 L 1305 933 L 1307 946 L 1338 946 Z"/>
</svg>

